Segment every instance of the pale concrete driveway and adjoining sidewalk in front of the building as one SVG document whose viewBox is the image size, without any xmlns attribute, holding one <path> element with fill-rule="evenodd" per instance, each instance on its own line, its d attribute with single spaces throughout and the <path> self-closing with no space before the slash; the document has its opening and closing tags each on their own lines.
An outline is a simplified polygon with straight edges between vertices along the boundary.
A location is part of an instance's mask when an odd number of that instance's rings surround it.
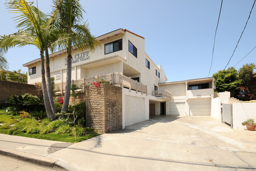
<svg viewBox="0 0 256 171">
<path fill-rule="evenodd" d="M 0 147 L 56 170 L 256 169 L 256 131 L 211 116 L 155 116 L 74 144 L 0 134 Z"/>
</svg>

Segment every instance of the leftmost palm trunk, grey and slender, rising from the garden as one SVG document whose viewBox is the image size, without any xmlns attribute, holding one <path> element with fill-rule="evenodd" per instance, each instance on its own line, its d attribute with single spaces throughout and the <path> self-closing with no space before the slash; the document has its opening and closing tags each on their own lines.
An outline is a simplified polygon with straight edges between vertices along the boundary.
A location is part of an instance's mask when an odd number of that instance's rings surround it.
<svg viewBox="0 0 256 171">
<path fill-rule="evenodd" d="M 47 93 L 46 81 L 45 81 L 45 59 L 44 59 L 44 51 L 40 51 L 41 55 L 41 73 L 42 73 L 42 88 L 43 88 L 43 96 L 45 102 L 45 109 L 47 112 L 47 116 L 49 121 L 55 120 L 55 116 L 52 112 L 52 108 L 50 106 L 50 100 Z"/>
</svg>

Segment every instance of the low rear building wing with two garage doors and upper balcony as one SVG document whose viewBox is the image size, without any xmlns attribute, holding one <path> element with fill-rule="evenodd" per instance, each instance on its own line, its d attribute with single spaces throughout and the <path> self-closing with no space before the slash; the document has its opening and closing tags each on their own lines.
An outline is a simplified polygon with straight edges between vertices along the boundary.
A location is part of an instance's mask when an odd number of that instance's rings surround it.
<svg viewBox="0 0 256 171">
<path fill-rule="evenodd" d="M 168 90 L 172 95 L 166 102 L 166 114 L 211 115 L 213 77 L 160 83 L 159 87 L 160 90 Z"/>
</svg>

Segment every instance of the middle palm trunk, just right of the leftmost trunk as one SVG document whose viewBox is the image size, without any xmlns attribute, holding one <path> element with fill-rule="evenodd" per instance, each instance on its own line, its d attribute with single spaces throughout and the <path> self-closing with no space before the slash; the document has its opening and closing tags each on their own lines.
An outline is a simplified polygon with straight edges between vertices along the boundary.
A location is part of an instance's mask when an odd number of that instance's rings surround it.
<svg viewBox="0 0 256 171">
<path fill-rule="evenodd" d="M 45 50 L 45 75 L 46 75 L 46 84 L 47 84 L 48 97 L 49 97 L 50 105 L 51 105 L 51 108 L 52 108 L 52 112 L 55 115 L 56 110 L 55 110 L 55 107 L 54 107 L 54 100 L 53 100 L 53 94 L 52 94 L 52 83 L 51 83 L 51 74 L 50 74 L 50 59 L 49 59 L 48 49 Z"/>
</svg>

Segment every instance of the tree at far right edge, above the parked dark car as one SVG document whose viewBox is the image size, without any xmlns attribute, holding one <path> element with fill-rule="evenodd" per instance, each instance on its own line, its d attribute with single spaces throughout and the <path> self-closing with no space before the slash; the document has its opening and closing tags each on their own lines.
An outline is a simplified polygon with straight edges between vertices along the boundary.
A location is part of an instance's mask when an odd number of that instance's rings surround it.
<svg viewBox="0 0 256 171">
<path fill-rule="evenodd" d="M 254 87 L 251 85 L 251 81 L 253 79 L 253 70 L 256 69 L 256 66 L 254 63 L 250 64 L 244 64 L 240 69 L 238 73 L 239 79 L 242 80 L 241 85 L 247 89 L 250 94 L 254 93 Z"/>
</svg>

